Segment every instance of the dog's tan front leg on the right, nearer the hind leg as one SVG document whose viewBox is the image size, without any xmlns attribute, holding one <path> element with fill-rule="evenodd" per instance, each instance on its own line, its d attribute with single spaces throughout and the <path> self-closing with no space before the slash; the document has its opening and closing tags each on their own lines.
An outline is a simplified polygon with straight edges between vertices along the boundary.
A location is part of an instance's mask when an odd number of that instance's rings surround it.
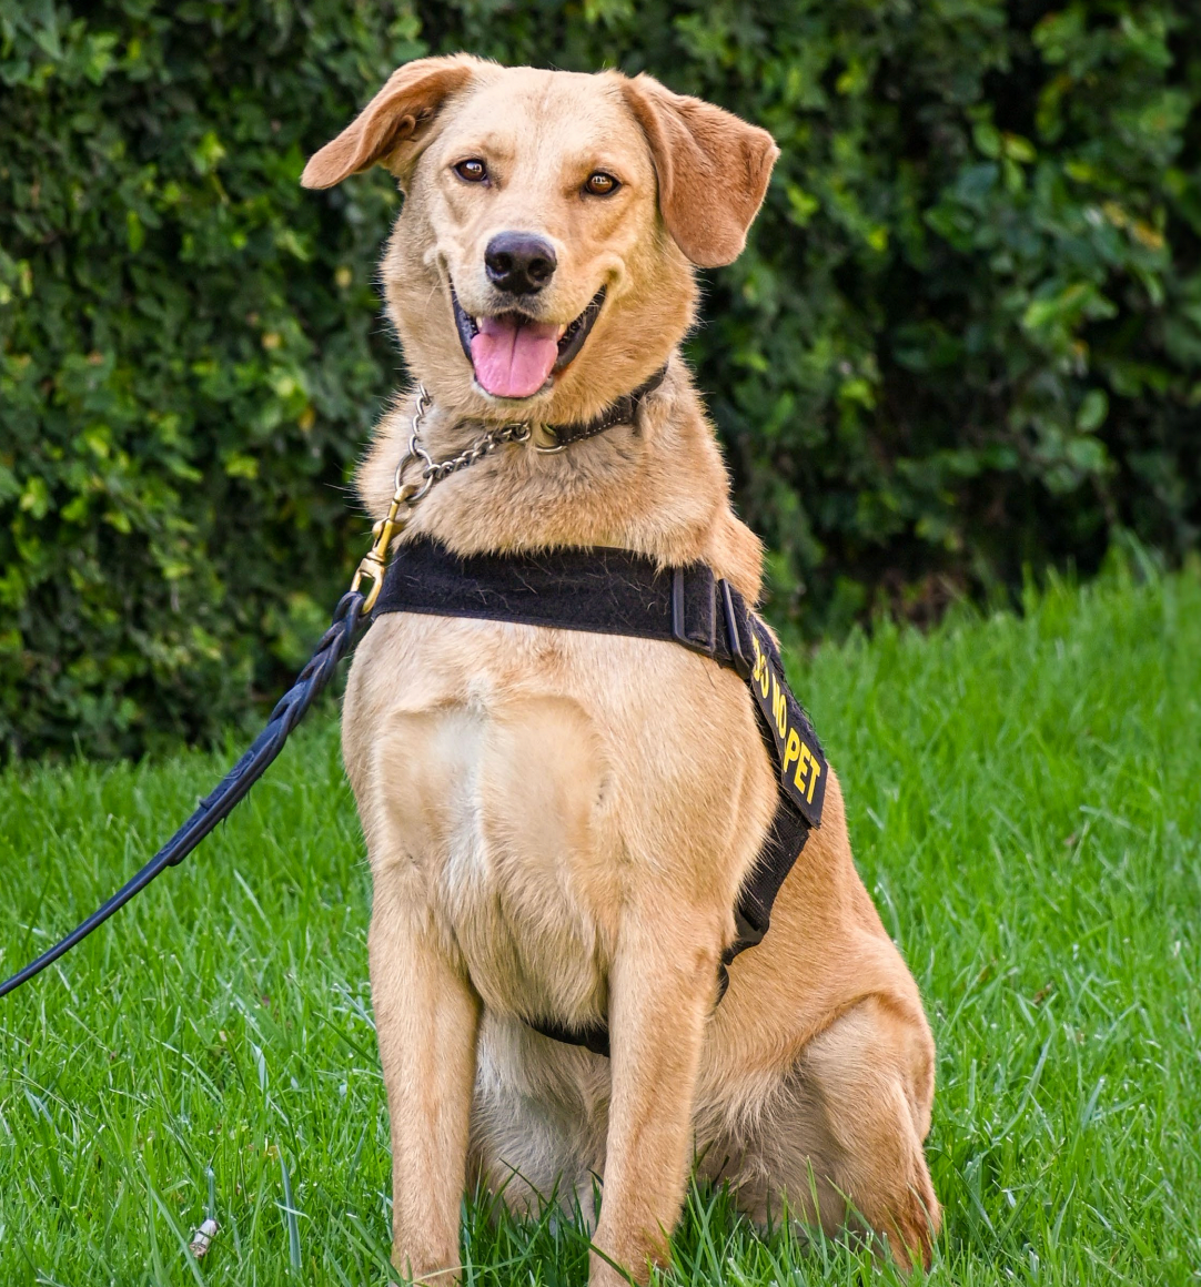
<svg viewBox="0 0 1201 1287">
<path fill-rule="evenodd" d="M 669 906 L 669 901 L 659 903 Z M 624 919 L 609 982 L 611 1094 L 592 1287 L 663 1264 L 693 1156 L 693 1097 L 717 985 L 718 928 L 698 914 Z M 609 1257 L 609 1260 L 605 1259 Z"/>
</svg>

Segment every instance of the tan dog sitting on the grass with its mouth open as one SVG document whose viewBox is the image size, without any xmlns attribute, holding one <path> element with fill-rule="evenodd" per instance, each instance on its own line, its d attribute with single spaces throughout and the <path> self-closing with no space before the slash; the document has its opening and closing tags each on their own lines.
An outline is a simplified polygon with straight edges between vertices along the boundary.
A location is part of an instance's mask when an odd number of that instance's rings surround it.
<svg viewBox="0 0 1201 1287">
<path fill-rule="evenodd" d="M 741 252 L 776 156 L 765 130 L 646 75 L 453 55 L 402 67 L 312 157 L 310 188 L 376 163 L 399 180 L 381 279 L 435 461 L 489 426 L 588 421 L 666 366 L 632 423 L 556 453 L 506 445 L 433 488 L 402 541 L 620 547 L 705 562 L 757 601 L 761 546 L 680 345 L 695 269 Z M 372 515 L 414 402 L 360 465 Z M 928 1264 L 935 1048 L 833 773 L 717 1004 L 777 789 L 736 674 L 671 642 L 387 615 L 355 655 L 342 746 L 373 876 L 404 1274 L 453 1281 L 461 1198 L 484 1185 L 517 1210 L 578 1202 L 591 1283 L 622 1282 L 617 1266 L 645 1281 L 694 1170 L 753 1220 L 851 1224 Z M 611 1058 L 530 1015 L 608 1022 Z"/>
</svg>

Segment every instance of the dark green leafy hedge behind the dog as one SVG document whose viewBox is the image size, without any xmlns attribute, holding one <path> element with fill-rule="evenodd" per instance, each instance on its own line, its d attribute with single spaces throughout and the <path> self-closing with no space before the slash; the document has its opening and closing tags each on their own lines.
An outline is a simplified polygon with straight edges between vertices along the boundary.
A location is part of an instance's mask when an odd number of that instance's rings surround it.
<svg viewBox="0 0 1201 1287">
<path fill-rule="evenodd" d="M 0 744 L 209 739 L 305 653 L 400 364 L 396 63 L 649 69 L 772 130 L 693 341 L 816 633 L 1201 525 L 1201 24 L 1155 3 L 0 0 Z"/>
</svg>

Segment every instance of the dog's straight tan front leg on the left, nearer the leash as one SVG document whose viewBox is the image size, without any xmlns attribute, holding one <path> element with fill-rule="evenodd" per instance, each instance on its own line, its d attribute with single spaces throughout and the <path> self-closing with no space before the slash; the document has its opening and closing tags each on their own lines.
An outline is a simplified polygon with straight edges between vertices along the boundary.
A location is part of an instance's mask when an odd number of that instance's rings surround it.
<svg viewBox="0 0 1201 1287">
<path fill-rule="evenodd" d="M 480 1003 L 399 879 L 376 875 L 368 952 L 393 1139 L 393 1264 L 449 1284 L 460 1268 L 458 1216 Z"/>
</svg>

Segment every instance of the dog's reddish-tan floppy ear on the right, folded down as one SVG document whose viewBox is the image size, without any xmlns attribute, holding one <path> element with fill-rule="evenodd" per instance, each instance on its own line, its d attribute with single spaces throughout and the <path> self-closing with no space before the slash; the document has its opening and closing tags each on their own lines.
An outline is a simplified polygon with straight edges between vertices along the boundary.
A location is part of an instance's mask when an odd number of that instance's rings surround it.
<svg viewBox="0 0 1201 1287">
<path fill-rule="evenodd" d="M 622 90 L 650 144 L 668 232 L 699 268 L 732 264 L 780 154 L 775 139 L 645 73 L 623 79 Z"/>
</svg>

